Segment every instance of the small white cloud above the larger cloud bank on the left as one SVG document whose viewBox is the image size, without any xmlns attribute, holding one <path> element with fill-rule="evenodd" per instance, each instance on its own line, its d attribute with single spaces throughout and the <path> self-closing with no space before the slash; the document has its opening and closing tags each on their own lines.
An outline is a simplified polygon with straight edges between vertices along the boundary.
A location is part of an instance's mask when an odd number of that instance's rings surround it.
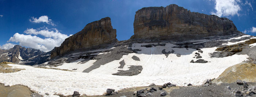
<svg viewBox="0 0 256 97">
<path fill-rule="evenodd" d="M 52 26 L 55 26 L 55 24 L 54 23 L 52 23 L 51 21 L 51 19 L 49 19 L 48 18 L 48 16 L 40 16 L 38 19 L 37 18 L 34 18 L 34 17 L 31 17 L 32 19 L 29 19 L 29 21 L 30 22 L 33 22 L 33 23 L 41 23 L 41 22 L 45 22 L 45 23 L 47 23 L 47 24 L 50 24 L 50 25 L 52 25 Z"/>
</svg>

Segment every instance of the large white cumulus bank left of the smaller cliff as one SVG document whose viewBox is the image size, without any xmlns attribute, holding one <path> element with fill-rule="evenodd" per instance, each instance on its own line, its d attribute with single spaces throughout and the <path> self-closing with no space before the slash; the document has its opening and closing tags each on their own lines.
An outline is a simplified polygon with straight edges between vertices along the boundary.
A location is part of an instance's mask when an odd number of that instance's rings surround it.
<svg viewBox="0 0 256 97">
<path fill-rule="evenodd" d="M 24 32 L 29 35 L 15 33 L 8 42 L 17 42 L 20 46 L 32 47 L 47 52 L 54 47 L 60 46 L 60 44 L 69 37 L 68 35 L 61 34 L 55 28 L 51 30 L 48 28 L 44 30 L 30 28 Z M 36 35 L 42 35 L 45 36 L 45 38 L 40 38 Z"/>
</svg>

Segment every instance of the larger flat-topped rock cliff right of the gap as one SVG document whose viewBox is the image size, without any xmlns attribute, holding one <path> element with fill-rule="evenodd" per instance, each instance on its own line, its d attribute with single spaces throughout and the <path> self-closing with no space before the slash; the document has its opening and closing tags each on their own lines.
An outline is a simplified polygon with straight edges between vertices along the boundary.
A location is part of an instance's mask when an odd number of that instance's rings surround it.
<svg viewBox="0 0 256 97">
<path fill-rule="evenodd" d="M 131 39 L 202 39 L 241 33 L 227 18 L 190 12 L 176 4 L 167 7 L 146 7 L 135 15 Z"/>
</svg>

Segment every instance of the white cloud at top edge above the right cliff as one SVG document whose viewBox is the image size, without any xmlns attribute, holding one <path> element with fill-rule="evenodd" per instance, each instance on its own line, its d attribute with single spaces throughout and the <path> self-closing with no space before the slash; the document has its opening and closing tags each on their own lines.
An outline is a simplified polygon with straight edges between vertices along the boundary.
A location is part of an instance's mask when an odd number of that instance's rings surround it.
<svg viewBox="0 0 256 97">
<path fill-rule="evenodd" d="M 240 0 L 215 0 L 215 8 L 217 12 L 211 12 L 213 15 L 221 16 L 234 16 L 238 15 L 241 7 L 238 3 Z"/>
</svg>

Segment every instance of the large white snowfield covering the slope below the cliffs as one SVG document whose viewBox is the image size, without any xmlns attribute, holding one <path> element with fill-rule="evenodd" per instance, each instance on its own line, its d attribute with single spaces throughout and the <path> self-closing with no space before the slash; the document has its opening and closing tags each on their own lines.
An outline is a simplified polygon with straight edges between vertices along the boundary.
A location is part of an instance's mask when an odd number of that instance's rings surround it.
<svg viewBox="0 0 256 97">
<path fill-rule="evenodd" d="M 68 70 L 77 69 L 74 72 L 8 64 L 12 68 L 26 70 L 16 73 L 0 73 L 0 83 L 10 86 L 25 85 L 45 97 L 48 97 L 45 93 L 49 93 L 49 97 L 54 96 L 53 94 L 67 96 L 72 95 L 74 91 L 87 96 L 97 96 L 106 94 L 108 88 L 117 91 L 124 88 L 148 86 L 151 83 L 163 85 L 171 82 L 177 86 L 187 86 L 188 83 L 202 85 L 204 79 L 217 78 L 226 68 L 241 63 L 248 58 L 248 55 L 236 54 L 223 58 L 211 58 L 209 54 L 213 53 L 217 47 L 204 48 L 201 49 L 203 53 L 199 53 L 195 49 L 172 48 L 177 46 L 173 43 L 166 43 L 165 46 L 141 47 L 141 45 L 146 44 L 152 43 L 132 44 L 132 49 L 141 49 L 142 51 L 123 55 L 120 60 L 101 65 L 89 73 L 82 73 L 82 71 L 92 66 L 96 60 L 87 60 L 85 63 L 81 63 L 84 59 L 78 59 L 56 67 Z M 230 44 L 233 43 L 228 45 Z M 252 46 L 254 45 L 252 44 Z M 174 50 L 174 53 L 169 54 L 166 58 L 165 54 L 162 54 L 163 49 L 166 52 Z M 193 58 L 196 55 L 195 53 L 199 53 L 202 56 L 200 59 L 204 59 L 208 63 L 190 63 L 192 59 L 197 60 Z M 181 56 L 178 57 L 177 54 Z M 133 55 L 139 57 L 140 61 L 133 60 Z M 118 68 L 120 66 L 119 62 L 122 60 L 124 60 L 125 65 L 123 69 L 120 69 Z M 129 70 L 128 67 L 131 65 L 142 66 L 143 70 L 140 74 L 134 76 L 112 75 L 117 73 L 117 70 Z"/>
</svg>

